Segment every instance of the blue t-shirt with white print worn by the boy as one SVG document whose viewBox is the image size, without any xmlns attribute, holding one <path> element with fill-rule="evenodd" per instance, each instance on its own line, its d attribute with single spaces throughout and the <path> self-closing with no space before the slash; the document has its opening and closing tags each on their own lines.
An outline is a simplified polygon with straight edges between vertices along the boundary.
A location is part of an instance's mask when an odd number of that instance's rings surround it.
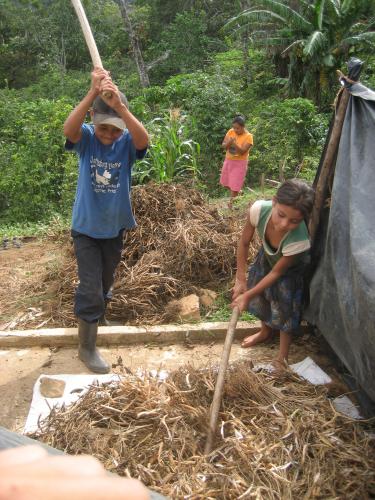
<svg viewBox="0 0 375 500">
<path fill-rule="evenodd" d="M 134 227 L 131 168 L 146 150 L 135 149 L 127 130 L 114 143 L 104 145 L 95 136 L 94 126 L 86 123 L 82 125 L 81 140 L 76 144 L 67 140 L 65 147 L 79 156 L 72 229 L 105 239 Z"/>
</svg>

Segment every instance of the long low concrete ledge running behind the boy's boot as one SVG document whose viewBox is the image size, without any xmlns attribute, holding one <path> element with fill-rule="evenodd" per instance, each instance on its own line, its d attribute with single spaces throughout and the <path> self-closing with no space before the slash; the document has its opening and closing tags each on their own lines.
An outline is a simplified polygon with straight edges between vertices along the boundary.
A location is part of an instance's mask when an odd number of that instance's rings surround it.
<svg viewBox="0 0 375 500">
<path fill-rule="evenodd" d="M 235 338 L 241 339 L 259 331 L 260 322 L 237 323 Z M 156 326 L 102 326 L 98 345 L 181 344 L 186 341 L 210 343 L 223 340 L 228 323 L 197 323 Z M 44 328 L 40 330 L 0 331 L 0 348 L 4 347 L 67 347 L 77 345 L 77 328 Z"/>
</svg>

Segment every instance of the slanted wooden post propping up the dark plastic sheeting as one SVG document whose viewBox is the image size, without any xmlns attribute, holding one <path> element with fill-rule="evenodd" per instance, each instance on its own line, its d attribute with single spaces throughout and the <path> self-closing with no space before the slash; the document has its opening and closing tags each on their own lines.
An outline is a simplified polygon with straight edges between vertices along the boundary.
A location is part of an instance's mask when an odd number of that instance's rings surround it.
<svg viewBox="0 0 375 500">
<path fill-rule="evenodd" d="M 338 104 L 336 106 L 336 114 L 332 127 L 331 137 L 329 139 L 326 154 L 322 163 L 322 168 L 320 171 L 320 176 L 315 189 L 315 201 L 311 212 L 309 232 L 311 242 L 314 241 L 316 231 L 319 225 L 320 212 L 324 204 L 324 198 L 327 188 L 327 179 L 335 165 L 336 154 L 340 142 L 342 126 L 345 119 L 346 108 L 348 106 L 350 93 L 343 88 L 340 91 L 340 96 Z"/>
</svg>

